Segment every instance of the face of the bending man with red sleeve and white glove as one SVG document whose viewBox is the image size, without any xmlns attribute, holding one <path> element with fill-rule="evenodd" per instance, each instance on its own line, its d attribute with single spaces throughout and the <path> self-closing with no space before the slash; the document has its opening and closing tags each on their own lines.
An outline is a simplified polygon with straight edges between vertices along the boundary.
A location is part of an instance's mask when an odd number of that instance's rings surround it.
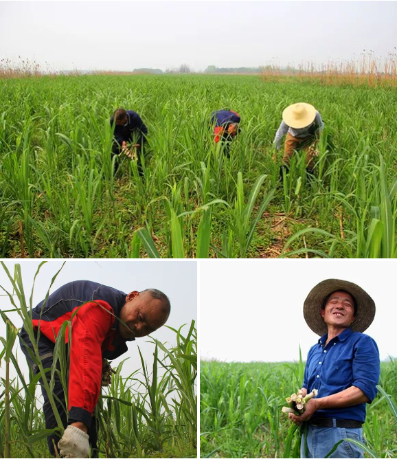
<svg viewBox="0 0 397 459">
<path fill-rule="evenodd" d="M 120 335 L 124 339 L 141 338 L 163 326 L 168 312 L 163 302 L 152 298 L 150 293 L 133 291 L 126 297 L 120 319 L 128 326 L 119 324 Z"/>
</svg>

